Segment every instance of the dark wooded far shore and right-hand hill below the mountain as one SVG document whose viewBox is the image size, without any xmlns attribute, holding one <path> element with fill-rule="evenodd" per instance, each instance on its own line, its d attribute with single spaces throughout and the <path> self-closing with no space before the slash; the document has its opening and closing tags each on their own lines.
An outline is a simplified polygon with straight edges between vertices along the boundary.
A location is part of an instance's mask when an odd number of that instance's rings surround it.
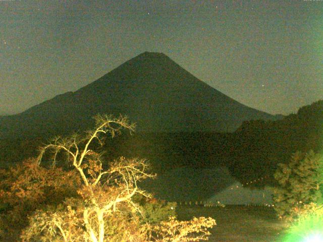
<svg viewBox="0 0 323 242">
<path fill-rule="evenodd" d="M 37 155 L 41 143 L 46 140 L 0 140 L 1 166 Z M 121 155 L 147 158 L 156 173 L 224 165 L 242 183 L 268 177 L 264 184 L 270 185 L 277 164 L 288 162 L 292 153 L 322 148 L 323 100 L 319 100 L 281 120 L 244 122 L 234 133 L 124 133 L 106 140 L 102 149 L 108 161 Z"/>
</svg>

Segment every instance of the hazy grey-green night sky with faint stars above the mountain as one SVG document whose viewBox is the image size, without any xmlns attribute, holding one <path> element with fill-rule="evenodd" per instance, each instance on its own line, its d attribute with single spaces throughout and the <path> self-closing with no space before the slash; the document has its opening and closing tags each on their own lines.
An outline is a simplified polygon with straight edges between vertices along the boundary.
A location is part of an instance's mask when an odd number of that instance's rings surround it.
<svg viewBox="0 0 323 242">
<path fill-rule="evenodd" d="M 0 114 L 144 51 L 272 114 L 323 99 L 323 1 L 0 0 Z"/>
</svg>

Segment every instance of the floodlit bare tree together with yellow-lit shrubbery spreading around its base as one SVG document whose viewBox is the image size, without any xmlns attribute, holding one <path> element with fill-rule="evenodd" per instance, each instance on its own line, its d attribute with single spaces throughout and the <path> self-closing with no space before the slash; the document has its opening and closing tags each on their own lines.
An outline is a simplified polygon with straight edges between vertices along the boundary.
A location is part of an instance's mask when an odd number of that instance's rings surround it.
<svg viewBox="0 0 323 242">
<path fill-rule="evenodd" d="M 40 149 L 38 164 L 44 154 L 53 154 L 53 165 L 60 152 L 67 154 L 67 162 L 74 167 L 83 181 L 78 197 L 68 198 L 64 204 L 46 210 L 37 210 L 29 218 L 23 231 L 23 241 L 64 242 L 168 242 L 207 240 L 208 228 L 216 225 L 212 218 L 194 218 L 179 222 L 170 217 L 168 222 L 152 226 L 143 223 L 140 207 L 134 202 L 136 194 L 150 197 L 137 183 L 153 175 L 147 172 L 143 159 L 119 158 L 103 169 L 102 154 L 94 151 L 94 141 L 102 145 L 104 135 L 113 137 L 134 126 L 127 118 L 95 117 L 96 126 L 84 137 L 73 135 L 56 138 Z M 140 216 L 139 216 L 140 215 Z"/>
</svg>

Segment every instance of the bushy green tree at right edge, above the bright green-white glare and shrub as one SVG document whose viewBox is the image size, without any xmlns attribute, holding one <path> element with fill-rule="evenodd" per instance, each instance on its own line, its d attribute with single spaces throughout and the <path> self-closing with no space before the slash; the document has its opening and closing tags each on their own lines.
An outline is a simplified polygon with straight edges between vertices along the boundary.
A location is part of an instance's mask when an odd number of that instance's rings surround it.
<svg viewBox="0 0 323 242">
<path fill-rule="evenodd" d="M 311 202 L 322 203 L 323 156 L 296 152 L 287 164 L 280 163 L 275 172 L 279 186 L 274 189 L 275 210 L 280 217 L 290 218 Z"/>
</svg>

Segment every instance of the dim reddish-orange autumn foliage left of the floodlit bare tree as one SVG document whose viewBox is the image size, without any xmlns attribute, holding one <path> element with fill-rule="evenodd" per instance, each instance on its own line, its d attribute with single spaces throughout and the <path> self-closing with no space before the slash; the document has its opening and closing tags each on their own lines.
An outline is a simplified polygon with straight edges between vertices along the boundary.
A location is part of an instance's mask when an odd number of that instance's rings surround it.
<svg viewBox="0 0 323 242">
<path fill-rule="evenodd" d="M 58 205 L 77 196 L 81 180 L 74 170 L 45 168 L 28 159 L 8 170 L 0 170 L 2 237 L 14 236 L 28 224 L 27 216 L 37 208 Z"/>
</svg>

